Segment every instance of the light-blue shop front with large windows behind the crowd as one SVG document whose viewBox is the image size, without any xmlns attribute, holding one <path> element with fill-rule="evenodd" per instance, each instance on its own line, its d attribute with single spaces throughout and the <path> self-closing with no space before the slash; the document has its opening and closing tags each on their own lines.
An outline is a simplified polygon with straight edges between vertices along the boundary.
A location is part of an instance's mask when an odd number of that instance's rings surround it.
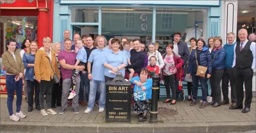
<svg viewBox="0 0 256 133">
<path fill-rule="evenodd" d="M 192 37 L 219 36 L 220 6 L 219 0 L 59 0 L 54 2 L 53 42 L 62 41 L 68 29 L 71 35 L 158 42 L 159 52 L 164 53 L 175 31 L 182 33 L 182 41 L 188 45 Z M 183 86 L 186 88 L 185 82 Z M 161 86 L 162 96 L 166 95 L 164 89 Z"/>
</svg>

